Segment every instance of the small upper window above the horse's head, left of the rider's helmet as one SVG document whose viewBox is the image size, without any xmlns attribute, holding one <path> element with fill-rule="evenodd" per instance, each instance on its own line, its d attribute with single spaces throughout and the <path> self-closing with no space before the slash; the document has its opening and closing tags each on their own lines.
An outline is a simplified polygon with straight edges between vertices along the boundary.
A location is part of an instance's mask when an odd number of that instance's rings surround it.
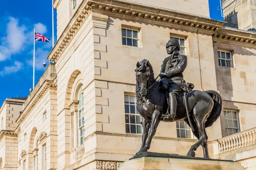
<svg viewBox="0 0 256 170">
<path fill-rule="evenodd" d="M 139 47 L 139 31 L 132 29 L 122 28 L 122 45 L 129 45 L 134 47 Z"/>
</svg>

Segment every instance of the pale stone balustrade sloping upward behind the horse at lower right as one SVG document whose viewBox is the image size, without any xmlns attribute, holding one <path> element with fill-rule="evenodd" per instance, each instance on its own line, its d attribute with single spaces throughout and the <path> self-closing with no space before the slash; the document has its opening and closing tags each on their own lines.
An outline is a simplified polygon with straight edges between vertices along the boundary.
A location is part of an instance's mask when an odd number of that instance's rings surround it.
<svg viewBox="0 0 256 170">
<path fill-rule="evenodd" d="M 218 139 L 218 149 L 220 154 L 251 146 L 253 144 L 256 144 L 256 127 Z"/>
</svg>

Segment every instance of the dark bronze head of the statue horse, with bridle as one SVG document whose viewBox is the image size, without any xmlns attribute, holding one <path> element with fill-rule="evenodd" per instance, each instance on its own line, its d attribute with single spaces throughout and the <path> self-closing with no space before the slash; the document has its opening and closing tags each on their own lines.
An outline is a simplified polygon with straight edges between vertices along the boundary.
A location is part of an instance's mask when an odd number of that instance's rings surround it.
<svg viewBox="0 0 256 170">
<path fill-rule="evenodd" d="M 135 72 L 137 81 L 136 91 L 141 97 L 145 98 L 148 95 L 150 82 L 155 80 L 152 65 L 148 60 L 143 59 L 141 62 L 137 62 Z"/>
</svg>

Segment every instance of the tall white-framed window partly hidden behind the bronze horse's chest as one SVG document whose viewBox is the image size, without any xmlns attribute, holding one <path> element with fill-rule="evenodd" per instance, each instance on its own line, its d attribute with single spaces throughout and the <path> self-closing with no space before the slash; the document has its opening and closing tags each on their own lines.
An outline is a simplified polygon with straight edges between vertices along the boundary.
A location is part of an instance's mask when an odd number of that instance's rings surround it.
<svg viewBox="0 0 256 170">
<path fill-rule="evenodd" d="M 138 113 L 135 96 L 125 95 L 125 129 L 126 133 L 142 133 L 141 116 Z"/>
</svg>

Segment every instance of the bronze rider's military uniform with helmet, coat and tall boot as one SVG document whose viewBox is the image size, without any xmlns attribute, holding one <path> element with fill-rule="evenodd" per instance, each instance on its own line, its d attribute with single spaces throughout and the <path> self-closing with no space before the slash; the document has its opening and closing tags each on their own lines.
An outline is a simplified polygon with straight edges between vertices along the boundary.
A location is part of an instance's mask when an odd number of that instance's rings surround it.
<svg viewBox="0 0 256 170">
<path fill-rule="evenodd" d="M 175 45 L 180 49 L 178 41 L 174 38 L 169 40 L 166 44 L 166 48 L 170 45 Z M 169 89 L 166 89 L 169 93 L 169 113 L 171 116 L 176 115 L 177 108 L 177 95 L 182 92 L 182 81 L 183 81 L 183 71 L 187 66 L 187 57 L 183 54 L 172 53 L 169 57 L 163 60 L 163 65 L 161 66 L 161 73 L 165 73 L 166 77 L 161 80 L 163 84 L 169 86 Z M 174 119 L 172 117 L 172 119 Z"/>
</svg>

